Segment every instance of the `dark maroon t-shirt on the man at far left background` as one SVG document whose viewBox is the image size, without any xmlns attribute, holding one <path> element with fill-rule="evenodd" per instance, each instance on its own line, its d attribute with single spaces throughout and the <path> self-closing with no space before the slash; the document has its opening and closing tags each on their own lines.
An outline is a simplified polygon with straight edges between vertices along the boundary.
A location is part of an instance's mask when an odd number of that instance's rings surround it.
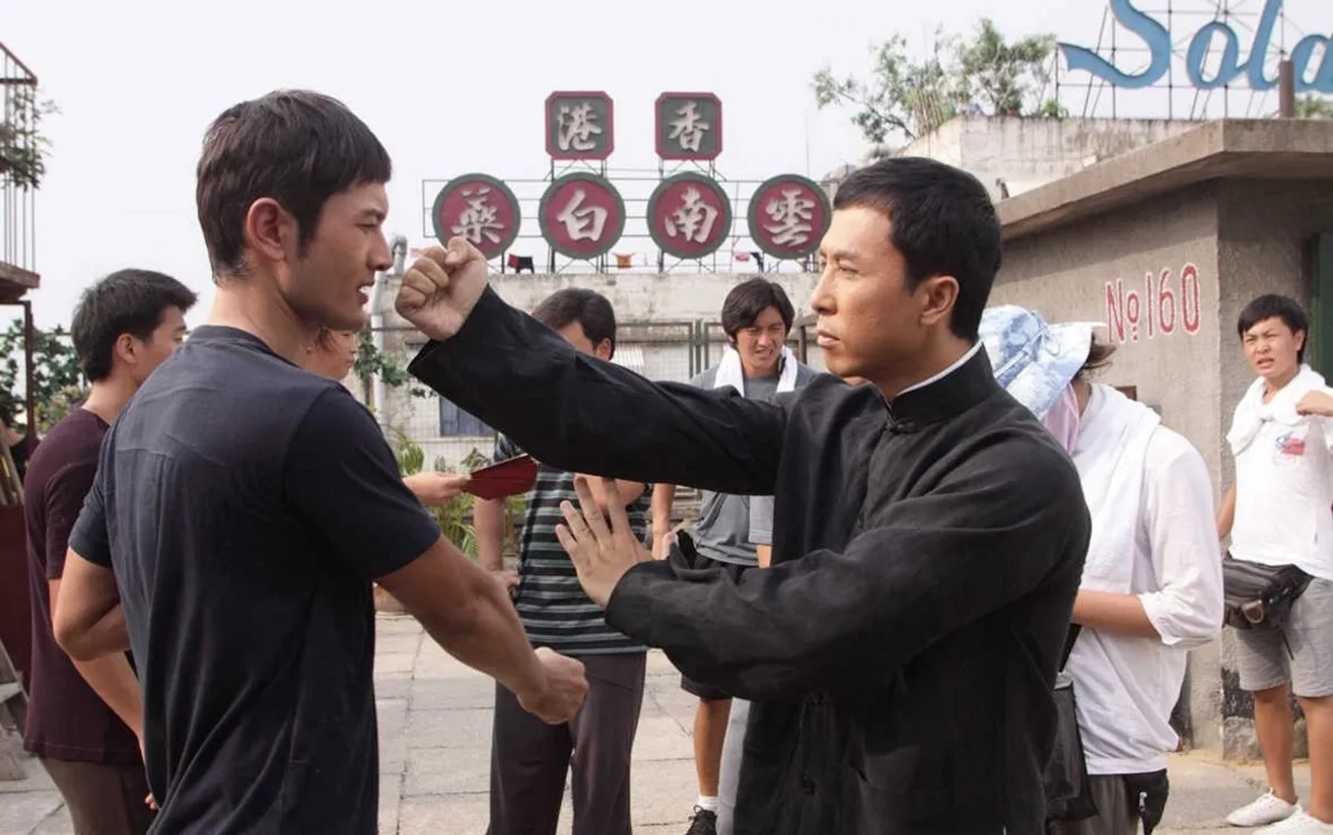
<svg viewBox="0 0 1333 835">
<path fill-rule="evenodd" d="M 100 417 L 75 409 L 51 427 L 28 462 L 23 498 L 32 593 L 32 681 L 24 747 L 53 759 L 128 766 L 140 762 L 139 740 L 56 645 L 47 585 L 65 570 L 69 530 L 97 474 L 104 434 L 107 423 Z"/>
</svg>

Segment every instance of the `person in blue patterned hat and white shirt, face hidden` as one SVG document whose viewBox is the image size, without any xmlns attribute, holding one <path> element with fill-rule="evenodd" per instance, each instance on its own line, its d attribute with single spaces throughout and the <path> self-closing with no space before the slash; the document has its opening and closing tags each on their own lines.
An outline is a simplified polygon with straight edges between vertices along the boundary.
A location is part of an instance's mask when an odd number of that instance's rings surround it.
<svg viewBox="0 0 1333 835">
<path fill-rule="evenodd" d="M 1133 835 L 1161 819 L 1170 714 L 1188 650 L 1221 631 L 1213 487 L 1198 451 L 1148 406 L 1093 384 L 1112 346 L 1090 324 L 1046 325 L 1016 306 L 981 318 L 996 378 L 1056 435 L 1078 469 L 1092 542 L 1065 673 L 1097 812 L 1062 835 Z"/>
</svg>

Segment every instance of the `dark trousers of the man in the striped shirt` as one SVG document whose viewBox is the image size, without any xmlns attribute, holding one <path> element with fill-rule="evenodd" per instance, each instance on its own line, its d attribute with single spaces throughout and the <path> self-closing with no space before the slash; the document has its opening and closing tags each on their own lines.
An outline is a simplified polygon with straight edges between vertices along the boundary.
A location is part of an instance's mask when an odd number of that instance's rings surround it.
<svg viewBox="0 0 1333 835">
<path fill-rule="evenodd" d="M 644 703 L 647 654 L 585 655 L 588 698 L 547 724 L 496 685 L 488 835 L 555 835 L 571 775 L 573 835 L 629 835 L 629 755 Z"/>
</svg>

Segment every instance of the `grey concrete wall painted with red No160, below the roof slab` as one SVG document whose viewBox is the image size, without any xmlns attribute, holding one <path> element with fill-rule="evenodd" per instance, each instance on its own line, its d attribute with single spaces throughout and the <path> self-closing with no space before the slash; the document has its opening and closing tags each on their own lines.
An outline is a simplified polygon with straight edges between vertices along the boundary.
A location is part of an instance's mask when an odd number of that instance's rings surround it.
<svg viewBox="0 0 1333 835">
<path fill-rule="evenodd" d="M 1233 477 L 1230 414 L 1253 380 L 1234 322 L 1261 293 L 1309 304 L 1310 241 L 1329 229 L 1322 182 L 1213 180 L 1012 241 L 992 300 L 1108 324 L 1100 334 L 1118 348 L 1102 381 L 1137 386 L 1202 454 L 1220 498 Z M 1233 651 L 1224 631 L 1190 654 L 1190 742 L 1254 758 Z"/>
</svg>

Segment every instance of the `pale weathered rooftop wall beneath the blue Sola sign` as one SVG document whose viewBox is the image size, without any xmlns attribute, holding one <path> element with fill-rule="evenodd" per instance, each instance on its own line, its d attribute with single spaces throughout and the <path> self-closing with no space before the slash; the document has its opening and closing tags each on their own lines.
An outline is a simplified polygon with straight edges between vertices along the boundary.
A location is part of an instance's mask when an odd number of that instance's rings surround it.
<svg viewBox="0 0 1333 835">
<path fill-rule="evenodd" d="M 962 168 L 998 200 L 997 178 L 1005 181 L 1010 196 L 1020 194 L 1197 127 L 1197 121 L 1165 119 L 958 116 L 898 153 Z"/>
</svg>

